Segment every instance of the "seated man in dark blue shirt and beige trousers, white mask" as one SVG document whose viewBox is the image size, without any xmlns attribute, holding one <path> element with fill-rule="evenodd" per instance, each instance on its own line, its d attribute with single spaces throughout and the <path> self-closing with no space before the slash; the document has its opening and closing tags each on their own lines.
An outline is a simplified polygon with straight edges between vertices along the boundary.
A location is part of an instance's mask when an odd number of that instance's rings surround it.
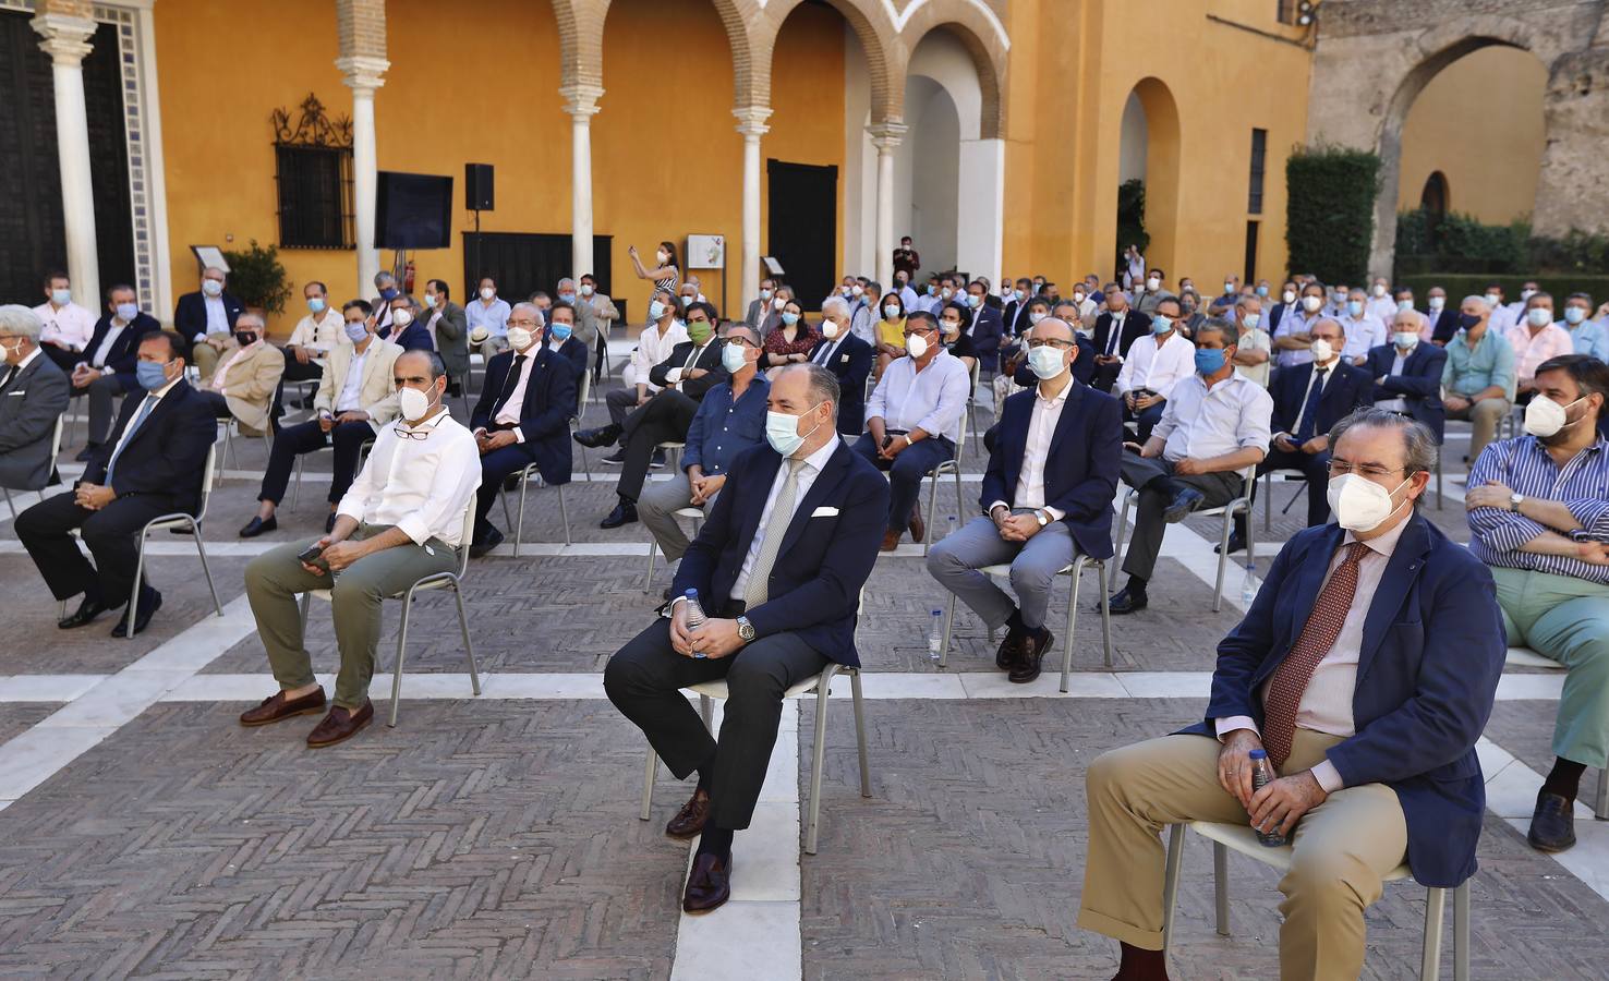
<svg viewBox="0 0 1609 981">
<path fill-rule="evenodd" d="M 732 460 L 766 437 L 771 384 L 759 371 L 759 338 L 751 326 L 734 323 L 726 331 L 721 367 L 730 378 L 705 392 L 698 404 L 698 412 L 687 426 L 682 471 L 668 481 L 648 484 L 637 502 L 642 523 L 658 542 L 668 568 L 687 553 L 687 536 L 676 521 L 676 511 L 702 508 L 708 516 L 726 486 Z M 665 590 L 665 598 L 671 598 L 669 589 Z"/>
</svg>

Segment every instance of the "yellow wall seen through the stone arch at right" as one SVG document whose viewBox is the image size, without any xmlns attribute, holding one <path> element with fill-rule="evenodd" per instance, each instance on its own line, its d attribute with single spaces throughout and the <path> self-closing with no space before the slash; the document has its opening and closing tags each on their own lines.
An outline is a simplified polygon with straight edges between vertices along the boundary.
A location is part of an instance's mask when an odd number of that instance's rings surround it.
<svg viewBox="0 0 1609 981">
<path fill-rule="evenodd" d="M 1529 217 L 1546 130 L 1548 69 L 1519 48 L 1482 48 L 1430 79 L 1403 124 L 1397 207 L 1419 207 L 1432 172 L 1448 206 L 1490 224 Z"/>
</svg>

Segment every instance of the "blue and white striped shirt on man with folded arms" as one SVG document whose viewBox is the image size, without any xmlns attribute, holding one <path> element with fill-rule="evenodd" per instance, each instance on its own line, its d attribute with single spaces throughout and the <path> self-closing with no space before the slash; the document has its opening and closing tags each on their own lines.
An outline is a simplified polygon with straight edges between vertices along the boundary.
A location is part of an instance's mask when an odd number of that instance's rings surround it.
<svg viewBox="0 0 1609 981">
<path fill-rule="evenodd" d="M 1582 524 L 1577 534 L 1609 539 L 1609 441 L 1603 436 L 1562 468 L 1535 436 L 1493 442 L 1469 471 L 1471 487 L 1488 481 L 1525 497 L 1556 500 Z M 1469 511 L 1469 550 L 1488 566 L 1574 576 L 1609 585 L 1609 566 L 1562 555 L 1521 552 L 1521 545 L 1543 532 L 1566 534 L 1525 515 L 1503 508 L 1474 508 Z"/>
</svg>

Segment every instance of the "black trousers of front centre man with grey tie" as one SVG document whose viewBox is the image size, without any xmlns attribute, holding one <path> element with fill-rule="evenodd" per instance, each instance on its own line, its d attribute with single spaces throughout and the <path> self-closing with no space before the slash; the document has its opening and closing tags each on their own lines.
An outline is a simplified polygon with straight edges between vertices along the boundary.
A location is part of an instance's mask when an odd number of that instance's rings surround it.
<svg viewBox="0 0 1609 981">
<path fill-rule="evenodd" d="M 782 695 L 825 666 L 825 656 L 792 634 L 761 637 L 729 658 L 684 658 L 671 650 L 671 621 L 660 618 L 610 658 L 603 690 L 677 780 L 713 762 L 710 820 L 737 831 L 753 819 L 766 782 Z M 681 690 L 722 677 L 729 698 L 716 740 Z"/>
</svg>

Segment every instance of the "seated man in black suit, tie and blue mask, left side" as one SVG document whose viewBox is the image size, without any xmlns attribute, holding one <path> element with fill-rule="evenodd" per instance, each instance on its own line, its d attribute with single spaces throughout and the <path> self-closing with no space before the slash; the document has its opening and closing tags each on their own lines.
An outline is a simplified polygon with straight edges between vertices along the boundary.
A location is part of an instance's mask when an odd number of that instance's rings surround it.
<svg viewBox="0 0 1609 981">
<path fill-rule="evenodd" d="M 56 622 L 63 630 L 129 601 L 138 563 L 135 536 L 146 521 L 175 511 L 193 515 L 201 505 L 217 423 L 185 381 L 182 346 L 183 339 L 163 331 L 140 341 L 140 392 L 124 400 L 111 439 L 90 457 L 74 492 L 47 497 L 16 516 L 16 537 L 51 595 L 64 601 L 84 593 L 79 608 Z M 95 564 L 79 552 L 69 534 L 74 527 Z M 163 593 L 140 582 L 134 632 L 145 630 L 161 606 Z M 129 619 L 119 618 L 111 635 L 126 637 L 127 627 Z"/>
</svg>

